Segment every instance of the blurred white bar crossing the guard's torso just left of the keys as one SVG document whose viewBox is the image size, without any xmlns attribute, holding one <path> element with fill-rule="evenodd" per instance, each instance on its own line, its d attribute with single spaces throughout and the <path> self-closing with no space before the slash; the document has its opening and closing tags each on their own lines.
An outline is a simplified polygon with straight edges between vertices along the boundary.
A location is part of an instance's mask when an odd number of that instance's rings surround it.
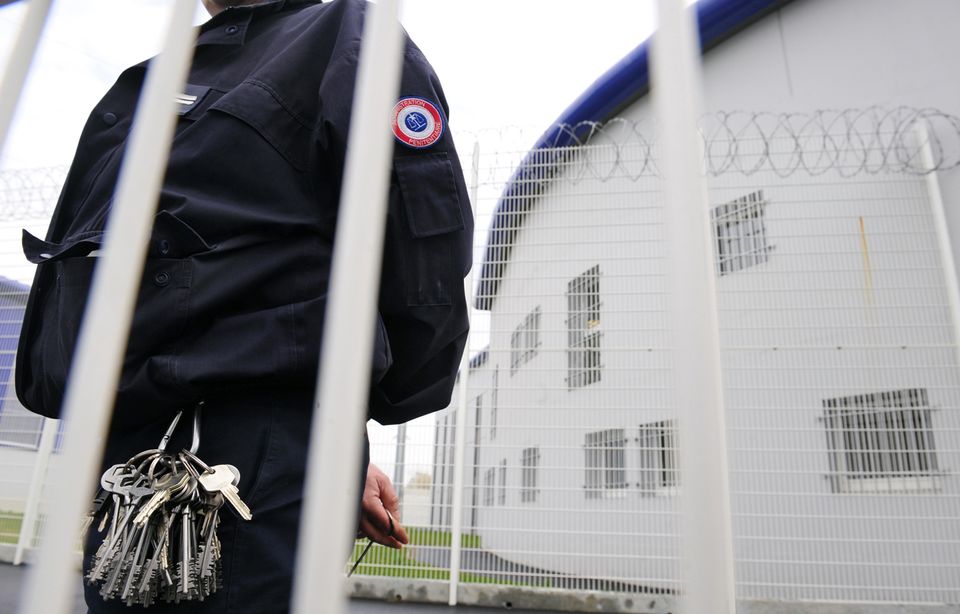
<svg viewBox="0 0 960 614">
<path fill-rule="evenodd" d="M 57 487 L 45 525 L 40 559 L 30 576 L 21 612 L 70 611 L 74 594 L 74 548 L 80 519 L 90 505 L 103 439 L 116 397 L 120 365 L 130 332 L 146 247 L 166 170 L 176 115 L 175 96 L 186 79 L 195 29 L 194 0 L 177 0 L 163 53 L 151 63 L 137 107 L 129 149 L 97 264 L 90 302 L 77 341 L 63 417 L 65 449 L 52 482 Z"/>
</svg>

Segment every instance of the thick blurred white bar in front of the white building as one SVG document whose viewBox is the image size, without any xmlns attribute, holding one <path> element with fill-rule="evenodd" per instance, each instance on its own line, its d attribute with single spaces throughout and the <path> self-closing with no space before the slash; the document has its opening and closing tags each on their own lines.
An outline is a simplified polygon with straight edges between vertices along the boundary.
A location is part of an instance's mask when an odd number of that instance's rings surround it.
<svg viewBox="0 0 960 614">
<path fill-rule="evenodd" d="M 652 87 L 663 126 L 667 275 L 676 339 L 682 459 L 683 575 L 688 614 L 733 614 L 733 539 L 720 373 L 716 280 L 702 173 L 700 58 L 693 11 L 658 0 Z"/>
</svg>

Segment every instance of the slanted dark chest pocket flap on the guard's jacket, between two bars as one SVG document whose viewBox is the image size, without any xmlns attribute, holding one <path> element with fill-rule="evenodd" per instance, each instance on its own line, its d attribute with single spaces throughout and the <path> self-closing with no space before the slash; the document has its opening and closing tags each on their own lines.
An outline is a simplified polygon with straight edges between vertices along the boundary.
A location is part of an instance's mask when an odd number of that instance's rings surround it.
<svg viewBox="0 0 960 614">
<path fill-rule="evenodd" d="M 253 128 L 294 168 L 307 168 L 310 125 L 294 115 L 272 90 L 259 81 L 244 81 L 210 106 Z"/>
</svg>

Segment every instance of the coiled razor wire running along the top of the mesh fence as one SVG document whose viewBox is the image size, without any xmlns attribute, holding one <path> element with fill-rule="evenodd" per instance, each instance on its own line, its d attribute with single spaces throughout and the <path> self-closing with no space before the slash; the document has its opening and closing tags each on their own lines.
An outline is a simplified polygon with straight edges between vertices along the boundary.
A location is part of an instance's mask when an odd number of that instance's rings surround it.
<svg viewBox="0 0 960 614">
<path fill-rule="evenodd" d="M 917 175 L 960 166 L 960 118 L 933 108 L 721 111 L 704 116 L 699 130 L 702 170 L 709 176 Z M 536 135 L 530 128 L 511 126 L 456 136 L 466 169 L 469 143 L 479 144 L 480 182 L 486 185 L 502 186 L 525 169 L 535 169 L 526 176 L 540 181 L 636 181 L 660 174 L 659 129 L 653 117 L 556 125 L 541 133 L 545 147 L 531 155 L 527 148 Z M 64 166 L 0 171 L 0 220 L 49 217 L 66 173 Z"/>
</svg>

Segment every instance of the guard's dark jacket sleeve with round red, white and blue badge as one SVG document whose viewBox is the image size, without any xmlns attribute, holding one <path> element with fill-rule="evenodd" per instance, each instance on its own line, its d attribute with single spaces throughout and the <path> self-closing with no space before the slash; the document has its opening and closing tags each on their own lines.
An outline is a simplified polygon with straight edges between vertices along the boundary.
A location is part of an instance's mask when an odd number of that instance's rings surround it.
<svg viewBox="0 0 960 614">
<path fill-rule="evenodd" d="M 341 33 L 351 29 L 349 16 L 346 21 Z M 355 74 L 354 66 L 325 75 L 328 146 L 345 143 L 340 133 L 349 98 L 330 88 L 352 91 Z M 472 259 L 473 217 L 446 100 L 409 39 L 397 101 L 391 122 L 384 123 L 395 135 L 394 156 L 369 399 L 369 416 L 382 424 L 449 405 L 467 339 L 463 280 Z M 339 117 L 330 115 L 335 108 Z"/>
</svg>

